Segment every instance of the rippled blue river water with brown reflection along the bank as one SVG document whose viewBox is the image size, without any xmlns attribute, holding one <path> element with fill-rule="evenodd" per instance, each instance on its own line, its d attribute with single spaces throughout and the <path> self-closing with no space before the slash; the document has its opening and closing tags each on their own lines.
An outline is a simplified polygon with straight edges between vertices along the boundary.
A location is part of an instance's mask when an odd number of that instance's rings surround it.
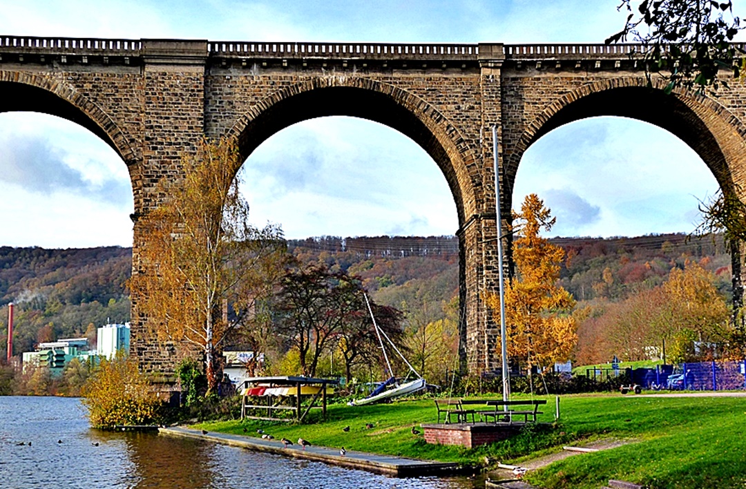
<svg viewBox="0 0 746 489">
<path fill-rule="evenodd" d="M 395 479 L 189 438 L 102 432 L 89 427 L 78 399 L 0 397 L 0 488 L 363 487 L 473 489 L 484 482 Z"/>
</svg>

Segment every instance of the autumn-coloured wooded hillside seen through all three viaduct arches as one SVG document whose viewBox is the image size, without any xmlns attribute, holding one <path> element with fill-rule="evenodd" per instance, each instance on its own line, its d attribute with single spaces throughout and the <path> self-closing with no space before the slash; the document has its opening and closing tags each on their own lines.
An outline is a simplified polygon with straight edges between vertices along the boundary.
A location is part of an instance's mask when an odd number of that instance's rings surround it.
<svg viewBox="0 0 746 489">
<path fill-rule="evenodd" d="M 612 352 L 621 353 L 618 344 L 606 344 L 615 324 L 610 318 L 627 314 L 620 308 L 632 307 L 634 300 L 650 306 L 649 291 L 687 263 L 701 265 L 718 294 L 730 298 L 730 255 L 720 240 L 667 234 L 551 241 L 566 252 L 560 280 L 578 301 L 580 341 L 574 355 L 581 362 L 605 361 Z M 324 263 L 333 271 L 360 276 L 377 303 L 406 313 L 409 329 L 438 321 L 457 323 L 458 240 L 452 236 L 324 236 L 289 241 L 288 250 L 301 262 Z M 90 325 L 129 320 L 125 283 L 130 272 L 129 248 L 0 247 L 3 357 L 7 303 L 17 305 L 16 352 L 30 350 L 37 341 L 90 335 Z"/>
</svg>

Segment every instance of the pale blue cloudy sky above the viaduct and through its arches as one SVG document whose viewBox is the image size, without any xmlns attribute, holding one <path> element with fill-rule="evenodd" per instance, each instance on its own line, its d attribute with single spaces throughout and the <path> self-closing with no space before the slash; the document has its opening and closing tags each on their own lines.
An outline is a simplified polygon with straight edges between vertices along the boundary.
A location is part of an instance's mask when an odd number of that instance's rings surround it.
<svg viewBox="0 0 746 489">
<path fill-rule="evenodd" d="M 618 0 L 0 0 L 0 35 L 329 42 L 603 42 Z M 738 12 L 736 12 L 738 13 Z M 0 96 L 2 96 L 0 94 Z M 445 177 L 416 143 L 381 124 L 313 119 L 272 136 L 242 167 L 257 226 L 288 238 L 452 235 Z M 417 182 L 412 185 L 412 182 Z M 548 236 L 689 232 L 718 189 L 683 142 L 658 127 L 594 118 L 525 153 L 513 206 L 535 192 L 557 216 Z M 128 171 L 82 127 L 0 114 L 0 246 L 131 246 Z"/>
</svg>

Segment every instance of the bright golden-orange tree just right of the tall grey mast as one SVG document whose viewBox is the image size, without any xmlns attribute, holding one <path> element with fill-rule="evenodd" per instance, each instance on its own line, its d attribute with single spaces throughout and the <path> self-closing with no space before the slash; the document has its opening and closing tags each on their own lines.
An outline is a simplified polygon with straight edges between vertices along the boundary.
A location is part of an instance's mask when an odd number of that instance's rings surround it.
<svg viewBox="0 0 746 489">
<path fill-rule="evenodd" d="M 557 285 L 565 253 L 539 236 L 542 229 L 551 230 L 555 219 L 536 194 L 526 196 L 513 219 L 518 237 L 513 243 L 516 276 L 505 287 L 507 353 L 529 369 L 546 367 L 568 359 L 577 342 L 571 315 L 575 300 Z M 487 295 L 486 302 L 499 321 L 498 295 Z"/>
</svg>

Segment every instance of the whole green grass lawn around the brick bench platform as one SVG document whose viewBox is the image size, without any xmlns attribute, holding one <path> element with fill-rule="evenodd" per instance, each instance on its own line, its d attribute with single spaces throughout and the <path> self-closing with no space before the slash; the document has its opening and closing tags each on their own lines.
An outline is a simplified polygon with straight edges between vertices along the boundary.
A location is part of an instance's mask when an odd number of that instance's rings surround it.
<svg viewBox="0 0 746 489">
<path fill-rule="evenodd" d="M 540 421 L 554 421 L 554 397 Z M 432 400 L 378 406 L 334 405 L 324 423 L 297 425 L 239 420 L 199 428 L 464 464 L 520 461 L 594 439 L 628 439 L 624 447 L 576 455 L 527 476 L 542 488 L 598 488 L 623 479 L 650 488 L 746 487 L 746 397 L 637 397 L 621 394 L 563 396 L 557 426 L 535 426 L 507 441 L 465 449 L 430 445 L 410 431 L 435 423 Z M 373 423 L 366 429 L 366 423 Z M 349 432 L 342 431 L 350 426 Z"/>
</svg>

